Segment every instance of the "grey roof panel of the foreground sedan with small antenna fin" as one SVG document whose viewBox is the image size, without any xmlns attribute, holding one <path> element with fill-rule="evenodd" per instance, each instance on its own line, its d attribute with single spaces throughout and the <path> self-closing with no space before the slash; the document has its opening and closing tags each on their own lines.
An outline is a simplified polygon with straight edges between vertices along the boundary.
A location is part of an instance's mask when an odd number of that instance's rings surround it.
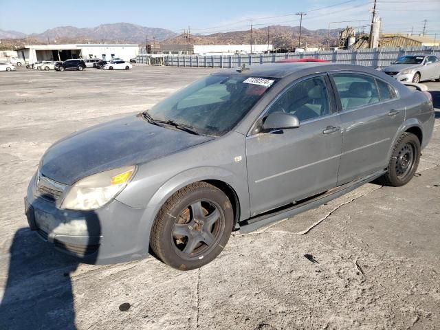
<svg viewBox="0 0 440 330">
<path fill-rule="evenodd" d="M 303 74 L 314 74 L 329 71 L 357 71 L 369 74 L 376 73 L 375 69 L 364 67 L 362 65 L 324 63 L 324 62 L 296 62 L 296 63 L 269 63 L 261 65 L 246 66 L 245 70 L 240 72 L 239 67 L 225 69 L 216 74 L 242 74 L 243 76 L 285 78 L 293 74 L 302 72 Z"/>
</svg>

